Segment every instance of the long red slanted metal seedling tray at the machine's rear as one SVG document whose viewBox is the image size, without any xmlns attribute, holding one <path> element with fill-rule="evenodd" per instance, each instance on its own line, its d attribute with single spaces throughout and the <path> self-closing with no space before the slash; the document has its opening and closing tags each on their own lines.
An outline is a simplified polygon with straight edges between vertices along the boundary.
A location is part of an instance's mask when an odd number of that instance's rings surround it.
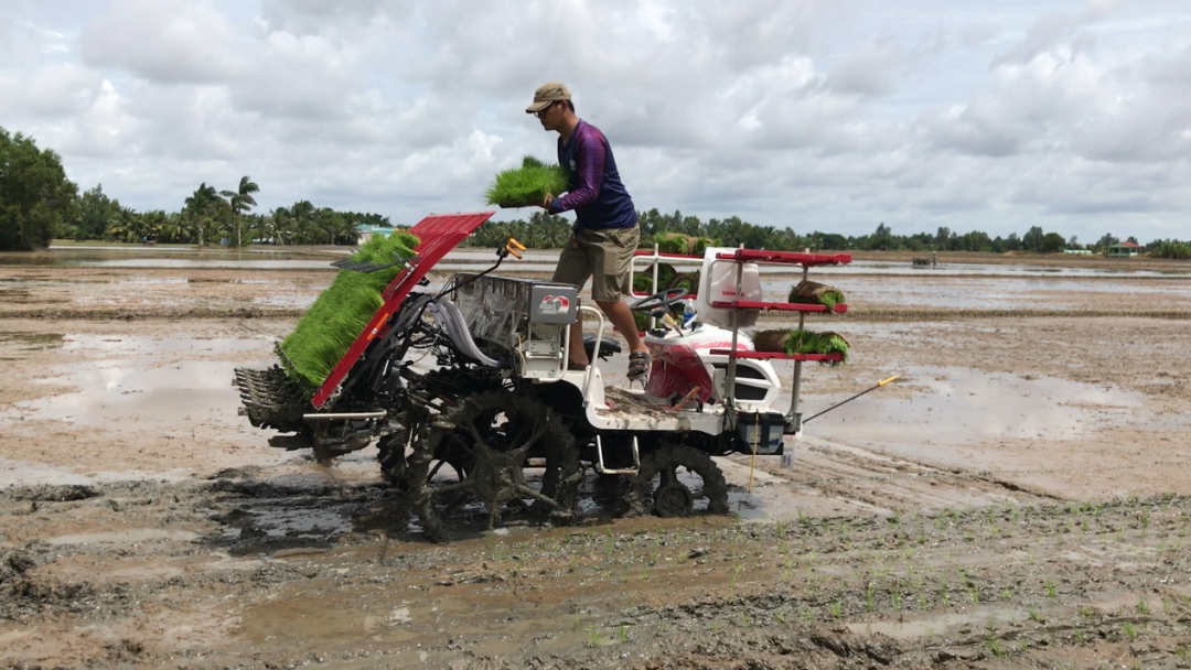
<svg viewBox="0 0 1191 670">
<path fill-rule="evenodd" d="M 475 232 L 475 228 L 480 227 L 480 224 L 487 221 L 493 214 L 495 212 L 431 214 L 410 228 L 410 232 L 418 236 L 419 240 L 418 248 L 413 250 L 416 256 L 389 282 L 384 294 L 385 305 L 380 309 L 376 309 L 372 320 L 368 321 L 368 326 L 364 327 L 363 332 L 356 338 L 356 342 L 348 349 L 348 352 L 336 363 L 335 369 L 328 375 L 323 386 L 314 393 L 314 397 L 311 399 L 311 403 L 314 407 L 323 409 L 328 405 L 328 401 L 336 395 L 343 380 L 348 377 L 348 372 L 351 371 L 351 368 L 363 356 L 364 350 L 368 349 L 368 343 L 378 334 L 381 334 L 388 324 L 388 318 L 401 306 L 401 301 L 413 290 L 413 287 L 418 286 L 422 277 L 426 276 L 430 268 L 434 268 L 435 264 L 442 261 L 443 256 L 451 249 L 455 249 L 467 236 Z"/>
</svg>

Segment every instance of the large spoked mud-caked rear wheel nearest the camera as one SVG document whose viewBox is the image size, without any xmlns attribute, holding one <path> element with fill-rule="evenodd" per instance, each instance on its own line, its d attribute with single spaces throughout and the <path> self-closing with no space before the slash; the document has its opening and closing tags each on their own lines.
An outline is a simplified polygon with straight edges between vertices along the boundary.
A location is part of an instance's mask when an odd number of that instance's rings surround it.
<svg viewBox="0 0 1191 670">
<path fill-rule="evenodd" d="M 529 458 L 544 459 L 540 476 L 526 475 Z M 438 476 L 443 463 L 454 476 Z M 579 452 L 562 419 L 505 390 L 468 397 L 436 417 L 406 458 L 410 502 L 434 541 L 517 516 L 567 520 L 580 480 Z"/>
</svg>

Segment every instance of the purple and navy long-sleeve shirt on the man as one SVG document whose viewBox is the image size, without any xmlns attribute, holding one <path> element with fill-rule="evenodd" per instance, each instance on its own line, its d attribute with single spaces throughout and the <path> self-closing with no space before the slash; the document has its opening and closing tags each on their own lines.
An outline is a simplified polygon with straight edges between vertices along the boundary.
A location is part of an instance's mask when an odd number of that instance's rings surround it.
<svg viewBox="0 0 1191 670">
<path fill-rule="evenodd" d="M 569 174 L 566 195 L 550 203 L 550 213 L 574 209 L 585 228 L 631 228 L 637 209 L 621 182 L 612 146 L 598 127 L 580 119 L 566 142 L 559 138 L 559 164 Z"/>
</svg>

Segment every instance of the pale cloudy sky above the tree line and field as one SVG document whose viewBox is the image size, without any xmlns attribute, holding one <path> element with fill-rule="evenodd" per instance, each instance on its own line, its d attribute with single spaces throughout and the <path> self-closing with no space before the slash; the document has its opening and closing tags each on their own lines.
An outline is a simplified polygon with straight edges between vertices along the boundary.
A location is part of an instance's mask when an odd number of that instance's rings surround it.
<svg viewBox="0 0 1191 670">
<path fill-rule="evenodd" d="M 1185 0 L 0 0 L 0 127 L 137 209 L 482 209 L 551 80 L 641 209 L 1191 238 Z"/>
</svg>

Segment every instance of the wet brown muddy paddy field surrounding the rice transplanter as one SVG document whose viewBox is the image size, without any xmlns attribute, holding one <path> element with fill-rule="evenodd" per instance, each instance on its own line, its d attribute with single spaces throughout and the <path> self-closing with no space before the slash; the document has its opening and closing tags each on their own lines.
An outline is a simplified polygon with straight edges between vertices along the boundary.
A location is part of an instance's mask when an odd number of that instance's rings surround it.
<svg viewBox="0 0 1191 670">
<path fill-rule="evenodd" d="M 1191 666 L 1191 280 L 1040 315 L 1028 273 L 833 277 L 880 290 L 803 411 L 900 378 L 793 468 L 719 459 L 732 516 L 612 519 L 590 475 L 576 526 L 441 546 L 374 447 L 236 414 L 331 277 L 0 265 L 0 668 Z"/>
</svg>

